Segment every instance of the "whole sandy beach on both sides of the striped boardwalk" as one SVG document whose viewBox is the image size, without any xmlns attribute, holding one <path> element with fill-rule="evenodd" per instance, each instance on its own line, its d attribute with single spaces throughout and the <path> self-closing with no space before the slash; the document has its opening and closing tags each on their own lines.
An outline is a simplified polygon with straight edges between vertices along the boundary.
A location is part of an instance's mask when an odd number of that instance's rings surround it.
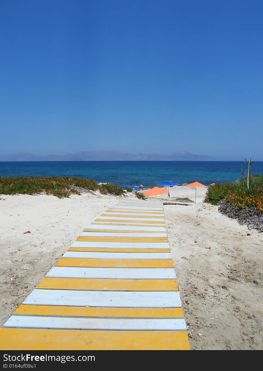
<svg viewBox="0 0 263 371">
<path fill-rule="evenodd" d="M 169 191 L 169 201 L 195 199 L 195 188 Z M 202 203 L 205 192 L 197 188 L 196 204 L 165 206 L 191 347 L 263 349 L 263 235 Z M 0 196 L 1 326 L 81 230 L 117 198 L 98 192 L 62 199 Z"/>
</svg>

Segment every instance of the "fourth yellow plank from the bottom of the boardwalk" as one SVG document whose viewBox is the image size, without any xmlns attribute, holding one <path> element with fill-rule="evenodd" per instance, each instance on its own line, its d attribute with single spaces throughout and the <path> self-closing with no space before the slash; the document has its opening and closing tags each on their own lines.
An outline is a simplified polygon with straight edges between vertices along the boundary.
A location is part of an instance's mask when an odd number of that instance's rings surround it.
<svg viewBox="0 0 263 371">
<path fill-rule="evenodd" d="M 88 259 L 62 257 L 55 267 L 173 268 L 172 259 Z"/>
</svg>

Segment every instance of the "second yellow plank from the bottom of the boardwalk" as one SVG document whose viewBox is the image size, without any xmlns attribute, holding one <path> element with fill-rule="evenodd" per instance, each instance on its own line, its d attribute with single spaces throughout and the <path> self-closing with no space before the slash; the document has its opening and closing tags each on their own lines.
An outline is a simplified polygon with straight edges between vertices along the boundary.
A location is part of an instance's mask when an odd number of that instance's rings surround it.
<svg viewBox="0 0 263 371">
<path fill-rule="evenodd" d="M 109 308 L 60 305 L 20 305 L 14 314 L 59 317 L 184 318 L 182 308 Z"/>
</svg>

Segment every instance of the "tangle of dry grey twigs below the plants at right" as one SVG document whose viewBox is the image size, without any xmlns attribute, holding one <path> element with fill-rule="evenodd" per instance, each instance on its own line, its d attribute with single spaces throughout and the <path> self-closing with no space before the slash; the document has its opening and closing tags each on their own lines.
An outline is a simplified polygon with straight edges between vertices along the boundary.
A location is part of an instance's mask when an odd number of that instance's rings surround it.
<svg viewBox="0 0 263 371">
<path fill-rule="evenodd" d="M 258 207 L 240 207 L 221 200 L 218 202 L 218 210 L 229 218 L 237 219 L 239 224 L 245 224 L 249 229 L 257 229 L 263 232 L 263 213 Z"/>
</svg>

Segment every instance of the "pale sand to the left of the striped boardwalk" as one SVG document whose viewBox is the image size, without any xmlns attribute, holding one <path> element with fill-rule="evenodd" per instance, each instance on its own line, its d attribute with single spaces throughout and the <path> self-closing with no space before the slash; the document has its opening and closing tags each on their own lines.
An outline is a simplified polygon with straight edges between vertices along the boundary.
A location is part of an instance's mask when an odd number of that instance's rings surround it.
<svg viewBox="0 0 263 371">
<path fill-rule="evenodd" d="M 82 230 L 117 198 L 98 192 L 63 199 L 22 194 L 0 198 L 2 326 Z"/>
</svg>

